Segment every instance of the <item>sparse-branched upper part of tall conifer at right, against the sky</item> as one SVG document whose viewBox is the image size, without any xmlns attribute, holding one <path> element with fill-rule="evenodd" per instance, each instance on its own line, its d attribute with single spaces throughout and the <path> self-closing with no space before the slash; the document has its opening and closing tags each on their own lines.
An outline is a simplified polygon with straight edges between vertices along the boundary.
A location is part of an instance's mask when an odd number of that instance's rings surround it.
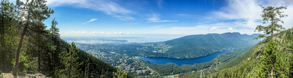
<svg viewBox="0 0 293 78">
<path fill-rule="evenodd" d="M 261 6 L 261 5 L 260 5 Z M 265 37 L 265 34 L 271 34 L 271 38 L 273 39 L 273 34 L 274 34 L 274 31 L 277 31 L 277 32 L 280 32 L 281 30 L 284 30 L 285 28 L 282 27 L 282 25 L 279 25 L 277 24 L 279 21 L 281 23 L 284 23 L 280 18 L 284 18 L 284 17 L 287 17 L 288 15 L 284 15 L 282 14 L 283 12 L 280 11 L 282 9 L 287 9 L 283 6 L 281 7 L 272 7 L 272 6 L 268 6 L 268 7 L 263 7 L 263 11 L 260 16 L 263 18 L 263 23 L 270 23 L 269 26 L 265 27 L 265 26 L 262 26 L 262 25 L 258 25 L 256 28 L 255 28 L 255 31 L 258 31 L 258 32 L 263 32 L 264 35 L 258 35 L 258 37 L 256 38 L 253 38 L 253 39 L 259 39 L 259 38 L 263 38 Z M 279 16 L 280 18 L 277 18 L 277 16 Z"/>
</svg>

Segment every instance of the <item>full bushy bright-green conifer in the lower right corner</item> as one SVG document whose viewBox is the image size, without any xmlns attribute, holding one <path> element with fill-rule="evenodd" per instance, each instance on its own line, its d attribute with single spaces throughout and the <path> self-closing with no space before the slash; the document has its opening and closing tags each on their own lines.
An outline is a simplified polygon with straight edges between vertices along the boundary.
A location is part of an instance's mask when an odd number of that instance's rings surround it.
<svg viewBox="0 0 293 78">
<path fill-rule="evenodd" d="M 258 64 L 256 74 L 262 78 L 289 77 L 288 57 L 283 58 L 278 43 L 270 40 L 263 51 L 263 59 Z"/>
</svg>

